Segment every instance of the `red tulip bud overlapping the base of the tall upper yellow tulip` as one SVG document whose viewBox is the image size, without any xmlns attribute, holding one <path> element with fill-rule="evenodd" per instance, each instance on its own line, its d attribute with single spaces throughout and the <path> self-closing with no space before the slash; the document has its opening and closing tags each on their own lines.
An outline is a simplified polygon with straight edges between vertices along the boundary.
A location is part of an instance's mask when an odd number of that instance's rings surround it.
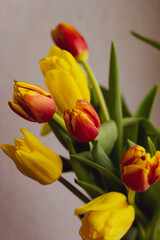
<svg viewBox="0 0 160 240">
<path fill-rule="evenodd" d="M 63 118 L 69 134 L 79 142 L 90 142 L 98 135 L 99 116 L 83 99 L 77 100 L 75 108 L 64 111 Z"/>
</svg>

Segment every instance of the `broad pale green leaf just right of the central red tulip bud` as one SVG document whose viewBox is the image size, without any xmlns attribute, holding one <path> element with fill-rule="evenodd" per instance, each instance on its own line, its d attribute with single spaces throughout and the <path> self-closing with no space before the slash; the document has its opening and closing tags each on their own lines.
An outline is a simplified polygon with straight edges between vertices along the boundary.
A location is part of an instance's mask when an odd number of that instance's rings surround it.
<svg viewBox="0 0 160 240">
<path fill-rule="evenodd" d="M 117 126 L 113 120 L 101 124 L 97 139 L 104 151 L 110 154 L 117 140 Z"/>
</svg>

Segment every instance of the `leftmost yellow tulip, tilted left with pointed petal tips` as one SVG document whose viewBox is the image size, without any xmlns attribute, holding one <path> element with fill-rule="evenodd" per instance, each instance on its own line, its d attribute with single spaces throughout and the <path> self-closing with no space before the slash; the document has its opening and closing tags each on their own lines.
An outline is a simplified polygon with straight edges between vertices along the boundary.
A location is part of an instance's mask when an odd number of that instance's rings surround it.
<svg viewBox="0 0 160 240">
<path fill-rule="evenodd" d="M 1 145 L 18 170 L 43 185 L 59 179 L 62 173 L 61 158 L 26 129 L 21 129 L 21 132 L 24 139 L 15 139 L 15 146 Z"/>
</svg>

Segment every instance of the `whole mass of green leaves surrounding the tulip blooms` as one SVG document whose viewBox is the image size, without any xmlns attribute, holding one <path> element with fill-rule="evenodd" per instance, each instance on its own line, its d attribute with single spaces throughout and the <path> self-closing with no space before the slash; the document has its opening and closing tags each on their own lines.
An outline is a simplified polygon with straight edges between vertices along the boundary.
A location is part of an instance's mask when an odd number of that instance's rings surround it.
<svg viewBox="0 0 160 240">
<path fill-rule="evenodd" d="M 160 43 L 131 32 L 137 38 L 160 49 Z M 91 71 L 91 70 L 90 70 Z M 90 72 L 91 73 L 91 72 Z M 92 77 L 92 74 L 89 74 Z M 90 79 L 91 80 L 91 79 Z M 91 198 L 107 191 L 118 191 L 126 194 L 121 181 L 119 162 L 125 151 L 135 145 L 141 145 L 153 156 L 160 149 L 160 132 L 151 123 L 150 117 L 158 92 L 156 84 L 143 97 L 132 114 L 120 91 L 118 62 L 115 45 L 111 44 L 109 89 L 101 86 L 102 94 L 110 120 L 104 121 L 100 98 L 97 98 L 92 81 L 89 80 L 91 103 L 99 114 L 102 124 L 97 139 L 92 143 L 79 143 L 54 120 L 49 122 L 53 132 L 70 154 L 70 160 L 62 157 L 63 172 L 74 171 L 75 182 L 83 188 Z M 136 194 L 136 203 L 145 216 L 141 222 L 136 212 L 136 221 L 123 240 L 159 240 L 160 236 L 160 181 L 150 186 L 144 193 Z M 148 223 L 149 222 L 149 223 Z"/>
</svg>

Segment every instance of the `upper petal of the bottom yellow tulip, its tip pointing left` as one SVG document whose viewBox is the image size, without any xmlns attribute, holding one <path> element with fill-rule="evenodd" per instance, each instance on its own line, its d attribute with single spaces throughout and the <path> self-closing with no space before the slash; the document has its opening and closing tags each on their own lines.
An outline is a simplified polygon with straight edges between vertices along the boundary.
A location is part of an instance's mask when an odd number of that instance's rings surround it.
<svg viewBox="0 0 160 240">
<path fill-rule="evenodd" d="M 126 206 L 126 196 L 118 192 L 103 194 L 75 210 L 75 215 L 88 214 L 91 211 L 117 209 Z"/>
</svg>

